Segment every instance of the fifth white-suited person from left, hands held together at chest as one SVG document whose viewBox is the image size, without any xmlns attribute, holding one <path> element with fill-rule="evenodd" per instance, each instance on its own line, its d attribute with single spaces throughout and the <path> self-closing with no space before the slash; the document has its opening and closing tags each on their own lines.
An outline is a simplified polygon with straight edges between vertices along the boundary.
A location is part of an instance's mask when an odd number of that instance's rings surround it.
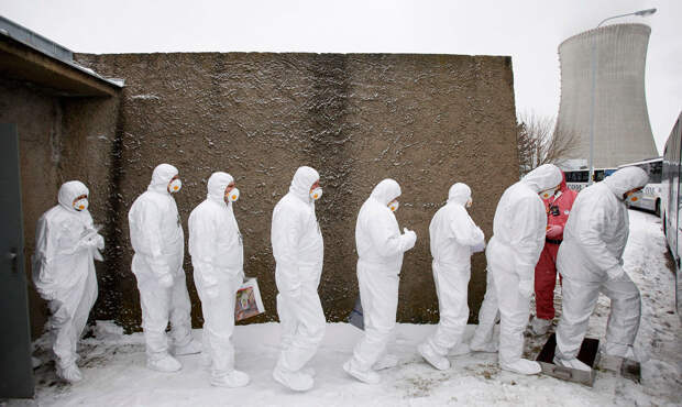
<svg viewBox="0 0 682 407">
<path fill-rule="evenodd" d="M 394 212 L 398 209 L 400 186 L 384 179 L 374 187 L 360 208 L 355 223 L 358 283 L 364 316 L 364 337 L 343 370 L 356 380 L 376 384 L 374 371 L 397 365 L 397 358 L 386 354 L 386 345 L 396 323 L 398 282 L 403 253 L 415 246 L 417 234 L 404 229 L 400 234 Z"/>
</svg>

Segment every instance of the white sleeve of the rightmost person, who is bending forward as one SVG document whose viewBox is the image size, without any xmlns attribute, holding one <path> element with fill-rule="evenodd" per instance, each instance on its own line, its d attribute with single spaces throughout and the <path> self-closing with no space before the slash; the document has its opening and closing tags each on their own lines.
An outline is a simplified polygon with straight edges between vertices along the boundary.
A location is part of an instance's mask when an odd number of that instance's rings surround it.
<svg viewBox="0 0 682 407">
<path fill-rule="evenodd" d="M 620 260 L 614 256 L 602 239 L 604 226 L 609 222 L 604 206 L 595 202 L 590 210 L 580 212 L 576 219 L 580 226 L 576 240 L 590 262 L 604 272 L 620 267 Z"/>
</svg>

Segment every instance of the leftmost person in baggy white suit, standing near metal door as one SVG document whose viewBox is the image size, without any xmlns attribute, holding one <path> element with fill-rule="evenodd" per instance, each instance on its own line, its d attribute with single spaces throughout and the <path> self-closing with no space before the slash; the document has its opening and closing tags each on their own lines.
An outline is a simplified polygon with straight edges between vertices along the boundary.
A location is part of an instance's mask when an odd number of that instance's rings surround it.
<svg viewBox="0 0 682 407">
<path fill-rule="evenodd" d="M 94 260 L 102 261 L 99 250 L 105 249 L 88 211 L 88 195 L 80 182 L 62 185 L 59 204 L 37 221 L 32 258 L 35 288 L 50 301 L 57 375 L 68 382 L 82 378 L 76 346 L 97 299 Z"/>
</svg>

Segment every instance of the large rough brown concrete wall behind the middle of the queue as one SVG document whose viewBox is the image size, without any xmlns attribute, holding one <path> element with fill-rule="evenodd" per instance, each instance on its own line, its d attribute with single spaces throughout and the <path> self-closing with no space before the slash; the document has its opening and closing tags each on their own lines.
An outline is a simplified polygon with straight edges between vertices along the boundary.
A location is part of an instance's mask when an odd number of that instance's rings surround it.
<svg viewBox="0 0 682 407">
<path fill-rule="evenodd" d="M 324 237 L 320 297 L 328 320 L 344 320 L 358 295 L 356 213 L 381 179 L 403 188 L 400 227 L 415 229 L 405 255 L 398 320 L 436 321 L 428 226 L 455 182 L 473 187 L 472 216 L 486 235 L 497 200 L 517 180 L 510 58 L 458 55 L 119 54 L 77 55 L 98 73 L 125 78 L 111 160 L 107 284 L 97 315 L 140 323 L 130 271 L 127 215 L 160 163 L 179 168 L 176 201 L 187 234 L 189 212 L 206 197 L 211 173 L 226 170 L 242 191 L 234 212 L 244 237 L 245 272 L 258 277 L 276 319 L 272 210 L 301 165 L 321 174 L 317 215 Z M 118 148 L 118 150 L 117 150 Z M 485 260 L 474 256 L 475 318 Z M 201 311 L 187 255 L 185 271 Z M 106 289 L 106 293 L 102 290 Z M 101 299 L 106 298 L 105 301 Z"/>
</svg>

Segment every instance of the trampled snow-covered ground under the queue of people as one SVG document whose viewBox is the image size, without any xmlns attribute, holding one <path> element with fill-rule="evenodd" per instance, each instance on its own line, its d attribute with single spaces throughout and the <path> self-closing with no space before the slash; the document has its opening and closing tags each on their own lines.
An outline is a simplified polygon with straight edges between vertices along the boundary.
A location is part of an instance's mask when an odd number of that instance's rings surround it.
<svg viewBox="0 0 682 407">
<path fill-rule="evenodd" d="M 636 348 L 649 360 L 641 365 L 641 384 L 613 372 L 597 370 L 593 388 L 548 376 L 520 376 L 501 371 L 495 354 L 452 355 L 452 369 L 436 371 L 416 353 L 417 344 L 433 326 L 399 324 L 391 351 L 400 364 L 382 372 L 380 385 L 366 385 L 341 369 L 361 332 L 348 323 L 329 323 L 311 365 L 315 388 L 295 394 L 272 378 L 277 356 L 279 326 L 262 323 L 238 327 L 234 334 L 237 367 L 251 375 L 244 388 L 216 388 L 199 355 L 182 356 L 179 373 L 162 374 L 145 369 L 144 341 L 140 333 L 123 336 L 110 322 L 98 322 L 94 338 L 81 341 L 79 352 L 84 381 L 58 382 L 53 363 L 36 371 L 37 396 L 44 406 L 440 406 L 440 405 L 557 405 L 666 406 L 682 404 L 682 329 L 674 310 L 674 276 L 666 264 L 660 221 L 630 211 L 630 240 L 625 268 L 642 293 L 642 319 Z M 557 297 L 560 289 L 557 289 Z M 588 336 L 603 339 L 608 299 L 600 298 Z M 560 299 L 557 300 L 561 309 Z M 535 307 L 534 307 L 535 309 Z M 468 327 L 466 341 L 473 334 Z M 194 334 L 200 338 L 201 331 Z M 547 339 L 530 338 L 527 356 L 534 358 Z M 48 358 L 47 338 L 36 341 L 36 355 Z"/>
</svg>

